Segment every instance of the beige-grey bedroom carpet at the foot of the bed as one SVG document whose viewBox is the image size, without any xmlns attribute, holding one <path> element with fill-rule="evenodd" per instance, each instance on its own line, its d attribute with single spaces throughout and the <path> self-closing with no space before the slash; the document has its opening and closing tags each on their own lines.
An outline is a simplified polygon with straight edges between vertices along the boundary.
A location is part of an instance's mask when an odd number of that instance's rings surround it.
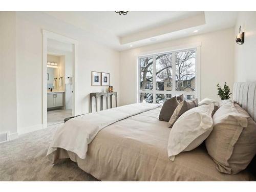
<svg viewBox="0 0 256 192">
<path fill-rule="evenodd" d="M 0 144 L 0 181 L 97 181 L 67 160 L 52 166 L 46 153 L 58 125 Z"/>
</svg>

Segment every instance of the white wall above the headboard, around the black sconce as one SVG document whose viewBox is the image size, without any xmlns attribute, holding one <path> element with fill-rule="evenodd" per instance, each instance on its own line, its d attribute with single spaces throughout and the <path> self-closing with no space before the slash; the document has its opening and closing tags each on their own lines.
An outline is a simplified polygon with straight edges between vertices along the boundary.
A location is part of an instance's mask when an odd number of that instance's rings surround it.
<svg viewBox="0 0 256 192">
<path fill-rule="evenodd" d="M 242 82 L 256 81 L 256 12 L 239 12 L 235 34 L 240 26 L 245 32 L 245 42 L 243 45 L 234 43 L 234 79 Z"/>
</svg>

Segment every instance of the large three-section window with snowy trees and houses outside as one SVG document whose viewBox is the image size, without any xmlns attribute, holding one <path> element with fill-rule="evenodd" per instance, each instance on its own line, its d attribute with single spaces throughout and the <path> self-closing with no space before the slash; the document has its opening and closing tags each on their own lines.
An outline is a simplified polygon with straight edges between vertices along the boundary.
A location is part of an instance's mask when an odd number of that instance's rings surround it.
<svg viewBox="0 0 256 192">
<path fill-rule="evenodd" d="M 172 95 L 198 97 L 197 48 L 139 57 L 138 101 L 163 103 Z"/>
</svg>

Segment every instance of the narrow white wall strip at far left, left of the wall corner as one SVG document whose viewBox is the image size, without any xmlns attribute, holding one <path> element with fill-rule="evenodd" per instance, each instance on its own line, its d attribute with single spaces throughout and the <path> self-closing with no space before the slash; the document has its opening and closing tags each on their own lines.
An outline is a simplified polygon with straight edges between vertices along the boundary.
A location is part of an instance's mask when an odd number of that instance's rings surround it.
<svg viewBox="0 0 256 192">
<path fill-rule="evenodd" d="M 12 138 L 17 132 L 15 22 L 15 12 L 0 12 L 0 133 Z"/>
</svg>

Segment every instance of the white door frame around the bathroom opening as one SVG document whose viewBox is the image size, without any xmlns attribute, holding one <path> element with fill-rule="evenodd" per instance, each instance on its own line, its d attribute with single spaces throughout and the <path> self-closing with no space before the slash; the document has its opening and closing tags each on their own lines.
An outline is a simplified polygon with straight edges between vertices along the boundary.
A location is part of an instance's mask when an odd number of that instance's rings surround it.
<svg viewBox="0 0 256 192">
<path fill-rule="evenodd" d="M 42 30 L 42 124 L 47 127 L 47 47 L 48 39 L 54 39 L 73 45 L 73 95 L 72 95 L 72 116 L 77 115 L 77 48 L 78 41 L 76 39 L 66 37 L 45 29 Z"/>
</svg>

